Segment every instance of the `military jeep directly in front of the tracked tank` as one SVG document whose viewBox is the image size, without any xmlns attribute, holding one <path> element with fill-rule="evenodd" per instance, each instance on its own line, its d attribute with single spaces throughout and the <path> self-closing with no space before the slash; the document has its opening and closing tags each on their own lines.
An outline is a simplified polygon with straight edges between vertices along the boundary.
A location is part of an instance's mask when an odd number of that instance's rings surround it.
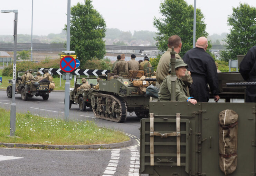
<svg viewBox="0 0 256 176">
<path fill-rule="evenodd" d="M 97 78 L 86 78 L 91 87 L 97 84 Z M 75 87 L 69 89 L 69 109 L 72 104 L 78 104 L 80 111 L 85 111 L 86 107 L 92 108 L 91 97 L 93 94 L 98 93 L 96 89 L 78 89 L 82 85 L 82 77 L 77 77 Z"/>
</svg>

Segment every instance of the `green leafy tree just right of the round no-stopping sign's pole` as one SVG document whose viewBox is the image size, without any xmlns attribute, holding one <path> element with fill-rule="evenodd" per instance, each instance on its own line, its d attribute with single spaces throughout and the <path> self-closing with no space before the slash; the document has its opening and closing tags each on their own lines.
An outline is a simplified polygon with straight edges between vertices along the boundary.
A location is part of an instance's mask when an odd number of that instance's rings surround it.
<svg viewBox="0 0 256 176">
<path fill-rule="evenodd" d="M 70 50 L 76 52 L 82 65 L 92 58 L 102 59 L 106 53 L 106 23 L 92 1 L 78 2 L 70 9 L 70 16 Z"/>
</svg>

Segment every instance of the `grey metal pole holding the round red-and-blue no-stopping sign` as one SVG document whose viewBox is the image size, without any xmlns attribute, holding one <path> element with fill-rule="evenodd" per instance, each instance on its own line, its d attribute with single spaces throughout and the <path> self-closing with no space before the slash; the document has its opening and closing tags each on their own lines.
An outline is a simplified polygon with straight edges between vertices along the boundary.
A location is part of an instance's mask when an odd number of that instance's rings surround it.
<svg viewBox="0 0 256 176">
<path fill-rule="evenodd" d="M 67 8 L 67 51 L 70 51 L 70 0 L 68 0 Z M 67 73 L 65 83 L 65 120 L 68 120 L 69 117 L 69 87 L 69 73 Z"/>
</svg>

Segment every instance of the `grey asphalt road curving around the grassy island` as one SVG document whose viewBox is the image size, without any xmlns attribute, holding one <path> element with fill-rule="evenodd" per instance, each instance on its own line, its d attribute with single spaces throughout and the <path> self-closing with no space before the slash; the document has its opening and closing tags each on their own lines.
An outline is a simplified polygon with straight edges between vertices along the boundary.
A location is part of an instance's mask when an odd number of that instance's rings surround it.
<svg viewBox="0 0 256 176">
<path fill-rule="evenodd" d="M 11 99 L 6 91 L 0 91 L 0 107 L 10 109 Z M 32 97 L 22 101 L 16 95 L 17 112 L 31 112 L 40 116 L 64 119 L 64 92 L 51 92 L 47 101 Z M 0 175 L 88 175 L 88 176 L 136 176 L 139 175 L 139 127 L 140 119 L 128 115 L 124 123 L 95 118 L 87 108 L 80 112 L 72 105 L 69 118 L 93 120 L 98 126 L 123 131 L 132 138 L 132 145 L 101 150 L 38 150 L 0 148 Z M 12 159 L 8 157 L 20 157 Z M 6 160 L 9 159 L 9 160 Z"/>
</svg>

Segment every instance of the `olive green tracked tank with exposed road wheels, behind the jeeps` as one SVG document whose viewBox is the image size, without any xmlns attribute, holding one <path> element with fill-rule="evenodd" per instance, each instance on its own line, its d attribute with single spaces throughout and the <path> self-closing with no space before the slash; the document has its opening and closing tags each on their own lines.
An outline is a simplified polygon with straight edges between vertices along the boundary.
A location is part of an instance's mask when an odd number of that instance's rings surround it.
<svg viewBox="0 0 256 176">
<path fill-rule="evenodd" d="M 137 79 L 109 77 L 99 81 L 98 93 L 92 96 L 95 117 L 114 122 L 124 122 L 127 112 L 135 112 L 138 117 L 148 117 L 150 97 L 138 93 L 140 88 L 132 84 Z"/>
</svg>

